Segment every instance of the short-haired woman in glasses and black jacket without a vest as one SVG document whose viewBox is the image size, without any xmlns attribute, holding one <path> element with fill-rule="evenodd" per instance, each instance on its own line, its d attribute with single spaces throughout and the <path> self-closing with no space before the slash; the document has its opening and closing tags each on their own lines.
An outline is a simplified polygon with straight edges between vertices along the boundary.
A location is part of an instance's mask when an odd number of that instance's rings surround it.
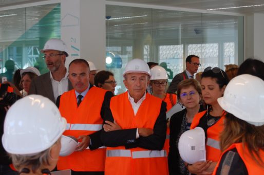
<svg viewBox="0 0 264 175">
<path fill-rule="evenodd" d="M 201 85 L 195 79 L 186 79 L 178 84 L 178 101 L 185 109 L 175 113 L 169 124 L 169 174 L 188 174 L 188 169 L 180 158 L 178 142 L 182 133 L 190 129 L 194 116 L 203 111 Z"/>
</svg>

